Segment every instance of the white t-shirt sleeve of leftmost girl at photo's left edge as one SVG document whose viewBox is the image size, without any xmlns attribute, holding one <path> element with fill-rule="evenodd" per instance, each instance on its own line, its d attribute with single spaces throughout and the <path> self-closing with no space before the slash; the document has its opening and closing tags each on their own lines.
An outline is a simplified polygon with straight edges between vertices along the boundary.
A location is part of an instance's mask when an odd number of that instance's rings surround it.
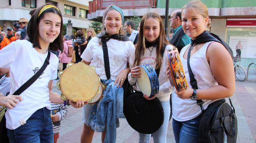
<svg viewBox="0 0 256 143">
<path fill-rule="evenodd" d="M 11 44 L 5 46 L 2 50 L 0 50 L 0 68 L 8 68 L 10 64 L 15 61 L 18 50 L 20 48 L 16 48 L 16 42 L 12 42 Z"/>
</svg>

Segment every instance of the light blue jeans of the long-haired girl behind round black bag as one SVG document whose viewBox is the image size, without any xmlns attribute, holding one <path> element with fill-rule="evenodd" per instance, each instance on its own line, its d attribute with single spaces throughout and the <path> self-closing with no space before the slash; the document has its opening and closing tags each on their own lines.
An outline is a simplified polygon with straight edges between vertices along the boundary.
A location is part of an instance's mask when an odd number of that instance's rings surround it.
<svg viewBox="0 0 256 143">
<path fill-rule="evenodd" d="M 161 103 L 164 109 L 164 123 L 155 133 L 153 133 L 154 143 L 166 143 L 166 134 L 170 118 L 170 101 L 163 101 Z M 139 143 L 149 143 L 150 136 L 151 134 L 139 133 Z"/>
</svg>

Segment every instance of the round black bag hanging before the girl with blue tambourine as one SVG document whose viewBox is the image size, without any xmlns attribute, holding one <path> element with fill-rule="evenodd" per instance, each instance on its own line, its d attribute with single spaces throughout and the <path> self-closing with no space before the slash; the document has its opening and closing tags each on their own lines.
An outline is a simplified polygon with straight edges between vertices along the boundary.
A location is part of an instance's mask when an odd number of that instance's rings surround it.
<svg viewBox="0 0 256 143">
<path fill-rule="evenodd" d="M 164 122 L 161 101 L 157 98 L 146 100 L 141 92 L 135 92 L 125 99 L 124 115 L 129 125 L 143 134 L 156 132 Z"/>
</svg>

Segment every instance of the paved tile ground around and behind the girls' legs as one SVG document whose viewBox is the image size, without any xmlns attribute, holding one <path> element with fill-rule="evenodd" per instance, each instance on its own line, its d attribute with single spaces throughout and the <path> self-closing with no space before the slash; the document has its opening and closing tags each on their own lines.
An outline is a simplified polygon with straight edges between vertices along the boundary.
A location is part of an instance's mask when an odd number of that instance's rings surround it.
<svg viewBox="0 0 256 143">
<path fill-rule="evenodd" d="M 54 84 L 57 80 L 54 80 Z M 54 92 L 60 93 L 56 88 Z M 238 118 L 237 143 L 255 143 L 256 141 L 256 83 L 236 82 L 235 94 L 231 97 Z M 228 100 L 227 100 L 228 101 Z M 119 119 L 116 143 L 138 143 L 139 135 L 129 126 L 125 118 Z M 61 121 L 59 143 L 80 143 L 83 129 L 82 109 L 69 107 L 68 114 Z M 101 134 L 95 132 L 93 143 L 101 143 Z M 150 143 L 153 143 L 151 137 Z M 172 121 L 169 122 L 167 143 L 175 143 Z"/>
</svg>

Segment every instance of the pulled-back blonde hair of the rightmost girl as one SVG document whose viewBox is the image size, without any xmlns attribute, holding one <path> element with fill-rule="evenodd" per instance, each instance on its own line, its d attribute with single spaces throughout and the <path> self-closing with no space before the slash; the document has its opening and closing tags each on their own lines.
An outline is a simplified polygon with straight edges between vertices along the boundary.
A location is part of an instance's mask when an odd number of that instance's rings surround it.
<svg viewBox="0 0 256 143">
<path fill-rule="evenodd" d="M 188 8 L 191 8 L 191 9 L 194 9 L 194 10 L 197 10 L 204 18 L 206 17 L 209 17 L 209 14 L 208 14 L 208 9 L 207 9 L 207 6 L 200 0 L 193 0 L 193 1 L 189 1 L 181 10 L 181 15 L 182 15 L 182 11 L 184 9 L 188 9 Z M 207 28 L 211 26 L 211 21 L 209 20 L 208 21 L 208 24 L 207 24 Z"/>
</svg>

